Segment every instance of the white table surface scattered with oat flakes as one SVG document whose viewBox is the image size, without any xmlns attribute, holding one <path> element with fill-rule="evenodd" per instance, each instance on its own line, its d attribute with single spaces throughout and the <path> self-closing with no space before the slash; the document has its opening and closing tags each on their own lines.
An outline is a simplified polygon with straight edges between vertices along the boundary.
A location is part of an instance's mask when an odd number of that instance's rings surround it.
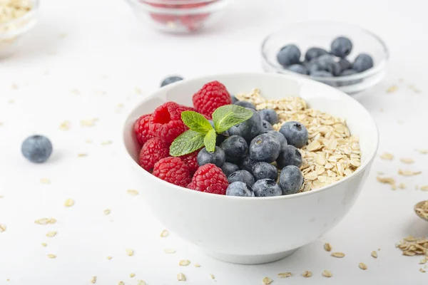
<svg viewBox="0 0 428 285">
<path fill-rule="evenodd" d="M 7 227 L 0 233 L 1 285 L 91 284 L 91 276 L 98 277 L 96 284 L 106 285 L 137 284 L 138 279 L 150 285 L 178 284 L 178 272 L 188 279 L 180 284 L 262 284 L 265 276 L 273 284 L 427 284 L 428 273 L 418 271 L 422 257 L 404 257 L 394 247 L 409 234 L 428 235 L 428 223 L 413 213 L 413 205 L 428 197 L 428 192 L 415 190 L 415 185 L 428 185 L 428 155 L 415 151 L 428 148 L 428 18 L 422 1 L 241 0 L 220 26 L 195 36 L 151 31 L 134 18 L 125 1 L 41 2 L 39 25 L 15 56 L 0 62 L 0 224 Z M 171 73 L 190 78 L 261 71 L 259 46 L 267 33 L 293 21 L 317 19 L 360 24 L 389 45 L 387 78 L 356 98 L 379 125 L 379 153 L 392 152 L 395 159 L 377 157 L 347 217 L 282 261 L 226 264 L 173 234 L 161 238 L 163 226 L 148 212 L 143 197 L 126 193 L 144 187 L 122 160 L 120 130 L 128 110 Z M 398 90 L 387 93 L 394 84 Z M 422 92 L 415 93 L 409 84 Z M 91 118 L 99 118 L 96 125 L 82 128 L 80 121 Z M 64 120 L 71 121 L 70 130 L 59 130 Z M 54 143 L 54 155 L 44 165 L 21 156 L 22 140 L 33 133 Z M 86 143 L 88 139 L 93 142 Z M 106 140 L 113 143 L 101 145 Z M 404 165 L 400 157 L 416 162 Z M 399 177 L 399 168 L 422 170 L 422 175 Z M 392 191 L 379 184 L 377 171 L 405 182 L 407 189 Z M 50 185 L 39 182 L 44 177 Z M 75 199 L 74 207 L 63 206 L 68 198 Z M 104 209 L 111 214 L 104 215 Z M 34 224 L 43 217 L 58 222 Z M 53 230 L 56 237 L 45 236 Z M 346 257 L 330 257 L 322 249 L 324 242 Z M 165 254 L 165 248 L 177 252 Z M 133 249 L 134 256 L 128 257 L 126 249 Z M 370 252 L 376 249 L 379 257 L 374 259 Z M 180 259 L 192 264 L 180 267 Z M 367 264 L 366 271 L 358 268 L 360 262 Z M 324 269 L 332 271 L 331 279 L 321 276 Z M 312 271 L 312 278 L 300 275 L 305 270 Z M 284 271 L 293 276 L 277 278 Z"/>
</svg>

